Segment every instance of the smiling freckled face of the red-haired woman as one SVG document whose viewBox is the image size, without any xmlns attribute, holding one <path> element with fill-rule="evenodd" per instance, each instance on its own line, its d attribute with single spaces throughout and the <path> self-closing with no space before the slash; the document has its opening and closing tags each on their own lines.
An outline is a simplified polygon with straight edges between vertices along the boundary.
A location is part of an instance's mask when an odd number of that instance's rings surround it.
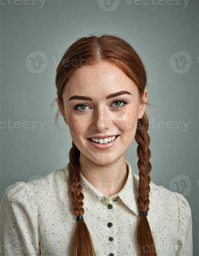
<svg viewBox="0 0 199 256">
<path fill-rule="evenodd" d="M 64 109 L 60 111 L 81 157 L 97 164 L 108 164 L 126 153 L 134 140 L 137 120 L 143 116 L 145 108 L 139 104 L 137 90 L 134 82 L 112 63 L 81 66 L 73 73 L 65 85 Z M 128 93 L 106 99 L 120 91 Z M 79 99 L 70 99 L 74 95 Z M 80 99 L 83 96 L 90 99 Z M 143 97 L 146 102 L 146 89 Z M 119 136 L 111 146 L 96 143 L 106 147 L 102 149 L 89 140 L 99 135 Z"/>
</svg>

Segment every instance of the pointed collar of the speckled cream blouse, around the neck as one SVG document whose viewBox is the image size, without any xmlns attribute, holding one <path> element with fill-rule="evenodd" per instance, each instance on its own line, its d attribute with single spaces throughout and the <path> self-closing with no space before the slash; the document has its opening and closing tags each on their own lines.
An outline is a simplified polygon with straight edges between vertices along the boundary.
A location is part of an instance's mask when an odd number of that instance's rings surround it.
<svg viewBox="0 0 199 256">
<path fill-rule="evenodd" d="M 68 165 L 64 168 L 65 171 Z M 138 195 L 138 184 L 139 184 L 139 176 L 135 174 L 132 169 L 130 163 L 126 160 L 126 167 L 128 170 L 128 177 L 126 183 L 122 190 L 119 193 L 108 197 L 100 193 L 92 184 L 88 182 L 88 180 L 84 177 L 84 175 L 80 171 L 80 178 L 81 178 L 81 186 L 82 186 L 82 193 L 84 195 L 84 206 L 83 208 L 92 209 L 102 201 L 104 203 L 113 203 L 113 198 L 119 197 L 121 201 L 131 210 L 134 214 L 138 215 L 139 210 L 137 206 L 137 195 Z M 67 172 L 68 174 L 68 172 Z M 117 202 L 119 203 L 119 202 Z"/>
</svg>

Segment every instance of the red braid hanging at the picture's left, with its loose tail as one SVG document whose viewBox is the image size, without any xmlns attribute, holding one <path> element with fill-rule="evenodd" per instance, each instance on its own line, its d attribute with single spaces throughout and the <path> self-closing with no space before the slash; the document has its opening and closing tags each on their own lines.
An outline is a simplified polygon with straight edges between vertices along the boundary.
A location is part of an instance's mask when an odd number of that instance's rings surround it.
<svg viewBox="0 0 199 256">
<path fill-rule="evenodd" d="M 73 146 L 69 152 L 68 184 L 71 191 L 74 214 L 80 216 L 84 215 L 84 195 L 81 193 L 82 186 L 80 185 L 79 174 L 80 151 L 73 142 L 72 144 Z M 76 223 L 76 230 L 71 243 L 71 256 L 96 256 L 92 238 L 84 219 Z"/>
</svg>

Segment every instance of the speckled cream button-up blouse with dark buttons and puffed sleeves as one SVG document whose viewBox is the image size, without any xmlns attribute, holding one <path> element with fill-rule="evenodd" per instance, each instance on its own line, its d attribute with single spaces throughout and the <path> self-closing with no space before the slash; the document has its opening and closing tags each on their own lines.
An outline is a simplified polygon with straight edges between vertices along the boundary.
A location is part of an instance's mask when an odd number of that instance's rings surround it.
<svg viewBox="0 0 199 256">
<path fill-rule="evenodd" d="M 136 198 L 139 176 L 126 161 L 128 178 L 113 196 L 98 192 L 81 175 L 84 221 L 97 256 L 138 256 Z M 68 165 L 30 182 L 7 187 L 0 204 L 0 245 L 3 256 L 71 256 L 76 227 Z M 192 256 L 191 208 L 186 198 L 150 182 L 148 221 L 158 256 Z M 80 220 L 81 221 L 81 220 Z M 146 248 L 147 249 L 147 248 Z"/>
</svg>

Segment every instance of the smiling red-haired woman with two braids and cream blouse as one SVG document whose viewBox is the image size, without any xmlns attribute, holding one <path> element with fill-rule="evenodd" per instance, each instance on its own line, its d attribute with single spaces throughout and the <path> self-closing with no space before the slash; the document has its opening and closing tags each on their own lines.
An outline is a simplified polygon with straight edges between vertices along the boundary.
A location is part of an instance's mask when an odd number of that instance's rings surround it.
<svg viewBox="0 0 199 256">
<path fill-rule="evenodd" d="M 120 37 L 83 37 L 66 50 L 55 123 L 60 111 L 72 137 L 70 161 L 7 188 L 3 255 L 192 255 L 188 201 L 150 180 L 146 82 L 141 58 Z M 126 160 L 134 138 L 139 176 Z"/>
</svg>

